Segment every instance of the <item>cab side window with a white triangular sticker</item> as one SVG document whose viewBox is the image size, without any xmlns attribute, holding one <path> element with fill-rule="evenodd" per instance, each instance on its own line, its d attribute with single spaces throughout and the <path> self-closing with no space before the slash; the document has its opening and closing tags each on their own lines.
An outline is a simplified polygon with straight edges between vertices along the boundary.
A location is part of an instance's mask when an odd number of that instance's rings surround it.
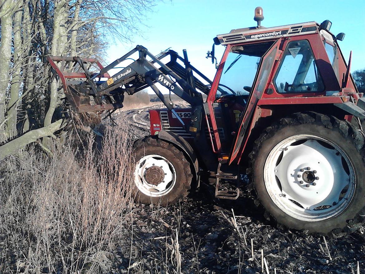
<svg viewBox="0 0 365 274">
<path fill-rule="evenodd" d="M 307 40 L 288 43 L 274 83 L 279 93 L 324 91 L 323 81 Z"/>
</svg>

